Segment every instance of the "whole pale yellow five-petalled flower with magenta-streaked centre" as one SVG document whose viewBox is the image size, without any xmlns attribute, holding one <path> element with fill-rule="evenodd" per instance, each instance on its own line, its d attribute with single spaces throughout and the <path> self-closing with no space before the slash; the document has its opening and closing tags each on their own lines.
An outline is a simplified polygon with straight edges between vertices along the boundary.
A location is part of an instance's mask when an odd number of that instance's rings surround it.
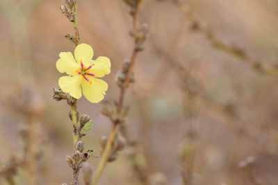
<svg viewBox="0 0 278 185">
<path fill-rule="evenodd" d="M 74 56 L 71 52 L 61 52 L 56 67 L 60 73 L 69 76 L 59 78 L 60 88 L 76 99 L 82 93 L 91 103 L 99 103 L 104 99 L 108 84 L 99 78 L 111 72 L 109 58 L 99 57 L 92 60 L 94 51 L 88 44 L 76 46 Z M 75 59 L 74 59 L 75 57 Z"/>
</svg>

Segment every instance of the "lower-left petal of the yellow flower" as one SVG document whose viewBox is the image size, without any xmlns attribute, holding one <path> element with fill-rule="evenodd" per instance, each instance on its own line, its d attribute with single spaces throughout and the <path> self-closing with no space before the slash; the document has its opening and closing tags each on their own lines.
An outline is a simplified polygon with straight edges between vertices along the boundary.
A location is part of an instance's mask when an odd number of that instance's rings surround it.
<svg viewBox="0 0 278 185">
<path fill-rule="evenodd" d="M 60 88 L 65 92 L 70 94 L 70 96 L 79 99 L 82 96 L 81 92 L 81 82 L 83 80 L 82 76 L 62 76 L 59 78 L 58 83 Z"/>
</svg>

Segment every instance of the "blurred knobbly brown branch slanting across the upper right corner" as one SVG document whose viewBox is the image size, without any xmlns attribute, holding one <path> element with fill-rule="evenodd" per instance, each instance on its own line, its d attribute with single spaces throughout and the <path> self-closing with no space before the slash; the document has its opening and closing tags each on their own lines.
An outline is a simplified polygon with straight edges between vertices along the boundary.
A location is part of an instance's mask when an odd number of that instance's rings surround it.
<svg viewBox="0 0 278 185">
<path fill-rule="evenodd" d="M 263 73 L 270 76 L 278 76 L 278 65 L 265 65 L 262 61 L 254 60 L 253 58 L 246 53 L 243 49 L 238 48 L 237 46 L 227 44 L 223 42 L 220 38 L 218 38 L 211 28 L 208 28 L 206 24 L 202 21 L 199 21 L 194 12 L 191 10 L 190 6 L 187 3 L 182 3 L 179 0 L 172 0 L 172 2 L 177 5 L 177 7 L 186 15 L 191 24 L 191 30 L 202 33 L 209 42 L 211 42 L 212 46 L 215 49 L 219 49 L 220 51 L 224 51 L 225 53 L 229 53 L 230 55 L 238 58 L 240 61 L 245 62 L 250 65 L 254 70 L 259 73 Z"/>
</svg>

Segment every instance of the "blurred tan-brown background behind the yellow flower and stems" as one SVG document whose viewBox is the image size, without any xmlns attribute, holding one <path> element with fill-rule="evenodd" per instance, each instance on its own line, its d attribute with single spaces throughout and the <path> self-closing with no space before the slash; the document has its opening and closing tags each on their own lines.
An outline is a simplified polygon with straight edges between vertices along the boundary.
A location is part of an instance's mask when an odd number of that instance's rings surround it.
<svg viewBox="0 0 278 185">
<path fill-rule="evenodd" d="M 0 0 L 0 167 L 22 152 L 24 127 L 35 121 L 38 184 L 72 180 L 65 161 L 72 152 L 70 107 L 52 98 L 63 76 L 58 53 L 74 51 L 64 37 L 74 31 L 62 3 Z M 81 42 L 93 47 L 94 58 L 111 59 L 105 100 L 116 100 L 115 74 L 133 49 L 128 7 L 81 0 L 78 14 Z M 147 182 L 136 178 L 123 151 L 101 184 L 278 184 L 278 1 L 145 0 L 139 19 L 149 33 L 126 94 L 126 127 L 140 143 Z M 84 142 L 95 156 L 111 127 L 101 107 L 85 98 L 78 103 L 94 121 Z M 97 166 L 99 158 L 89 162 Z M 17 184 L 24 174 L 18 170 Z"/>
</svg>

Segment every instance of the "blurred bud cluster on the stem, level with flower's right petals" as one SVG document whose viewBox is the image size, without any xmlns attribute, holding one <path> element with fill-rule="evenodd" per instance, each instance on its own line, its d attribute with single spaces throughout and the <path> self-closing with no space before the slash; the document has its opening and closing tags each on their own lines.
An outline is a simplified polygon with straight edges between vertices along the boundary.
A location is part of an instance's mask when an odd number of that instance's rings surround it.
<svg viewBox="0 0 278 185">
<path fill-rule="evenodd" d="M 124 83 L 126 81 L 126 76 L 127 76 L 127 73 L 129 72 L 129 67 L 130 67 L 130 60 L 126 59 L 122 63 L 122 69 L 117 71 L 115 80 L 119 87 L 124 87 Z M 131 78 L 129 79 L 128 85 L 129 85 L 129 83 L 133 83 L 133 82 L 135 82 L 134 73 L 131 74 Z"/>
</svg>

